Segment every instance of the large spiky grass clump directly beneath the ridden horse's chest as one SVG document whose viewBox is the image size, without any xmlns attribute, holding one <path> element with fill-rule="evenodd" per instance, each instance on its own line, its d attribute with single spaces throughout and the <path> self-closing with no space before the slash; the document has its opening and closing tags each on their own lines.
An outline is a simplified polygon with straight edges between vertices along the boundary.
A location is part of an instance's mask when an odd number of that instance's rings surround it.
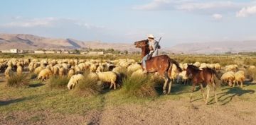
<svg viewBox="0 0 256 125">
<path fill-rule="evenodd" d="M 150 76 L 124 78 L 122 89 L 125 95 L 135 97 L 154 97 L 158 94 L 154 88 L 154 81 Z"/>
</svg>

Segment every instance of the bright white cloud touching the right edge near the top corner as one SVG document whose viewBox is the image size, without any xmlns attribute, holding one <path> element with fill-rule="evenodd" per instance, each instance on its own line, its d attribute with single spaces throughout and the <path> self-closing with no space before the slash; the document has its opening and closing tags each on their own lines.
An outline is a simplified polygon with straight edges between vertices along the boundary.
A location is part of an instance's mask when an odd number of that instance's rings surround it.
<svg viewBox="0 0 256 125">
<path fill-rule="evenodd" d="M 244 7 L 236 13 L 236 17 L 245 18 L 247 16 L 256 14 L 256 6 Z"/>
</svg>

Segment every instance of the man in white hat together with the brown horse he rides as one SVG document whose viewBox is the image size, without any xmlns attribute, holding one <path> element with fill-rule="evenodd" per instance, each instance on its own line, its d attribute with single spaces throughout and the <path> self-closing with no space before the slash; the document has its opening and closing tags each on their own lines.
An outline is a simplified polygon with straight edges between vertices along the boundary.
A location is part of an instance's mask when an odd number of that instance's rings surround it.
<svg viewBox="0 0 256 125">
<path fill-rule="evenodd" d="M 178 62 L 174 59 L 169 58 L 165 54 L 157 55 L 158 49 L 160 48 L 158 44 L 159 42 L 154 40 L 154 35 L 149 35 L 148 40 L 134 42 L 135 47 L 142 49 L 142 67 L 144 68 L 144 73 L 159 73 L 159 76 L 164 78 L 163 93 L 169 94 L 171 92 L 171 84 L 174 82 L 174 78 L 171 78 L 174 65 L 178 72 L 182 70 L 178 66 Z"/>
</svg>

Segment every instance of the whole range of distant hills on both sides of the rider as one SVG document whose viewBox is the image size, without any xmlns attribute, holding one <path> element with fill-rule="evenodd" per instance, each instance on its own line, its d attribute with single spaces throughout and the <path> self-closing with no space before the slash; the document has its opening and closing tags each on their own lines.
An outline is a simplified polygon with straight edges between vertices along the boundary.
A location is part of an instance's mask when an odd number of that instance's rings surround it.
<svg viewBox="0 0 256 125">
<path fill-rule="evenodd" d="M 57 39 L 26 34 L 0 34 L 0 50 L 4 49 L 117 49 L 129 52 L 139 51 L 133 44 L 80 41 L 71 38 Z M 162 47 L 161 51 L 191 54 L 212 54 L 225 52 L 255 52 L 256 41 L 242 42 L 194 42 L 181 43 L 173 47 Z"/>
</svg>

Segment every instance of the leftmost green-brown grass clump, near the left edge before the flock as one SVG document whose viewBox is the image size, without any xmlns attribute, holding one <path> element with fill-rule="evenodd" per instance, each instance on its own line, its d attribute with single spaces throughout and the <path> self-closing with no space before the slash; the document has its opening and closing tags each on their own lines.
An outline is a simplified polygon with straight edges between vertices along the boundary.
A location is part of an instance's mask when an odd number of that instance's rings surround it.
<svg viewBox="0 0 256 125">
<path fill-rule="evenodd" d="M 7 80 L 7 85 L 15 88 L 27 87 L 29 85 L 28 76 L 24 74 L 11 76 Z"/>
</svg>

